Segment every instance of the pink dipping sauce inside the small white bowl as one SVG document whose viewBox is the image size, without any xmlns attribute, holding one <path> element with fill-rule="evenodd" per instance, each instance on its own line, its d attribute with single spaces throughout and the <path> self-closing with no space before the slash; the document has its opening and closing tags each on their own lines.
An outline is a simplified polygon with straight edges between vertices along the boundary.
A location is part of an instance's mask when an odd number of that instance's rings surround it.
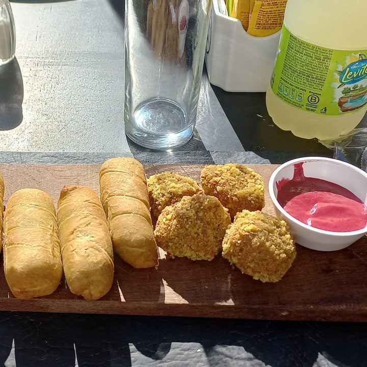
<svg viewBox="0 0 367 367">
<path fill-rule="evenodd" d="M 314 228 L 349 232 L 367 224 L 367 207 L 362 200 L 336 183 L 306 177 L 302 162 L 294 166 L 292 179 L 283 178 L 276 186 L 284 210 Z"/>
</svg>

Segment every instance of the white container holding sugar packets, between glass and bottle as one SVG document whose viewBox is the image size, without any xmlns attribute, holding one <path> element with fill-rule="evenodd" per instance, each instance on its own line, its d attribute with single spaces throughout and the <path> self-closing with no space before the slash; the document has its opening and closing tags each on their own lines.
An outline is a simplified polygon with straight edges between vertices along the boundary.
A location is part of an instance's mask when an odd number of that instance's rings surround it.
<svg viewBox="0 0 367 367">
<path fill-rule="evenodd" d="M 241 21 L 223 15 L 212 2 L 205 64 L 209 81 L 227 92 L 265 92 L 273 71 L 280 31 L 249 35 Z"/>
</svg>

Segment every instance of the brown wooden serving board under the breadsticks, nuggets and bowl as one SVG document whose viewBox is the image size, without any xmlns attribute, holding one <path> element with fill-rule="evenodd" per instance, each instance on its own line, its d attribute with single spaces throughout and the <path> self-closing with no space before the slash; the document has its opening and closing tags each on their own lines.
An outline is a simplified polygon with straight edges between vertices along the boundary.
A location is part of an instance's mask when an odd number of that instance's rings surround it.
<svg viewBox="0 0 367 367">
<path fill-rule="evenodd" d="M 276 165 L 249 165 L 268 182 Z M 100 165 L 0 165 L 5 204 L 16 190 L 39 188 L 55 200 L 65 184 L 88 185 L 97 192 Z M 147 176 L 171 170 L 199 180 L 203 165 L 145 165 Z M 274 214 L 266 193 L 264 211 Z M 14 298 L 0 269 L 0 309 L 46 312 L 118 313 L 272 320 L 367 321 L 367 243 L 347 249 L 313 251 L 297 245 L 292 268 L 277 283 L 243 275 L 218 256 L 213 261 L 166 258 L 158 269 L 133 269 L 115 255 L 111 291 L 97 301 L 74 296 L 63 280 L 47 297 Z M 0 259 L 2 264 L 2 257 Z"/>
</svg>

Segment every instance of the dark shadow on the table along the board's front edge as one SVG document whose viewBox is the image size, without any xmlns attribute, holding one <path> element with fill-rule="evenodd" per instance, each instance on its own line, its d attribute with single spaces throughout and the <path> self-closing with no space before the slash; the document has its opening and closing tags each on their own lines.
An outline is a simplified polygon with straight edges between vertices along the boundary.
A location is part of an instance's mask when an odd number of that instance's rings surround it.
<svg viewBox="0 0 367 367">
<path fill-rule="evenodd" d="M 191 343 L 202 346 L 205 358 L 200 365 L 208 367 L 315 367 L 323 365 L 317 362 L 320 355 L 337 367 L 367 365 L 364 323 L 6 311 L 0 317 L 0 365 L 7 366 L 70 367 L 76 356 L 79 367 L 130 367 L 134 344 L 139 352 L 134 353 L 134 365 L 169 366 L 185 360 L 185 365 L 196 367 L 189 352 L 197 351 L 187 347 Z M 13 338 L 15 358 L 10 360 Z"/>
</svg>

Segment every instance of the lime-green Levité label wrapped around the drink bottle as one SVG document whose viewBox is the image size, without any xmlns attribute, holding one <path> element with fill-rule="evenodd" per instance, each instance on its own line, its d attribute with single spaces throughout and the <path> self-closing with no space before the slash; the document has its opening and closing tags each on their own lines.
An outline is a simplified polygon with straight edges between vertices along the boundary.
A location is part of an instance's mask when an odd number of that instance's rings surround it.
<svg viewBox="0 0 367 367">
<path fill-rule="evenodd" d="M 367 50 L 334 50 L 295 37 L 284 25 L 271 76 L 274 94 L 308 112 L 341 115 L 367 103 Z"/>
</svg>

